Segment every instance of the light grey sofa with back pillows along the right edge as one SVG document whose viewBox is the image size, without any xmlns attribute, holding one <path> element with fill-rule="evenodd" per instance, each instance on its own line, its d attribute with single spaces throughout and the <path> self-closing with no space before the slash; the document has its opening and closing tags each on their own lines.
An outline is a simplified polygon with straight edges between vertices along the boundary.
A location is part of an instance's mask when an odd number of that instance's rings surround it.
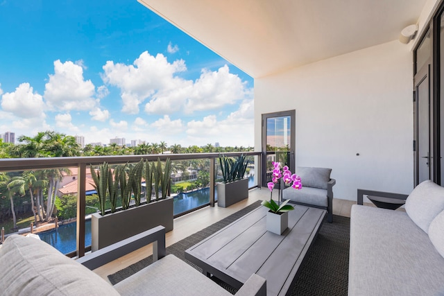
<svg viewBox="0 0 444 296">
<path fill-rule="evenodd" d="M 422 182 L 405 210 L 352 206 L 348 295 L 444 295 L 444 188 Z"/>
</svg>

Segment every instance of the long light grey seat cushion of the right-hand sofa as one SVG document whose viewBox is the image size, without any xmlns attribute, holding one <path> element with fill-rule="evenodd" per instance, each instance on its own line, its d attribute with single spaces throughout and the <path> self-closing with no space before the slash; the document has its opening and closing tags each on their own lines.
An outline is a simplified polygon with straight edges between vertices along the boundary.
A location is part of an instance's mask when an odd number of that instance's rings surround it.
<svg viewBox="0 0 444 296">
<path fill-rule="evenodd" d="M 354 204 L 348 295 L 443 295 L 444 258 L 404 211 Z"/>
</svg>

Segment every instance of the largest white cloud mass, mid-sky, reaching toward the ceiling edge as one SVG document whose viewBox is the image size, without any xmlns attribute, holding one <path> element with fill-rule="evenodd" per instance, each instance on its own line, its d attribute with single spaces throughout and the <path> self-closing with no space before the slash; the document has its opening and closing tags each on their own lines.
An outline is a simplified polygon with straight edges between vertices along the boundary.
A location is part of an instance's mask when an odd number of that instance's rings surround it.
<svg viewBox="0 0 444 296">
<path fill-rule="evenodd" d="M 162 54 L 154 57 L 144 51 L 133 64 L 106 62 L 102 79 L 119 87 L 122 112 L 128 114 L 139 113 L 139 105 L 147 99 L 146 113 L 164 115 L 216 110 L 252 97 L 246 82 L 230 73 L 226 64 L 217 71 L 203 69 L 195 82 L 176 75 L 186 69 L 183 60 L 169 63 Z"/>
</svg>

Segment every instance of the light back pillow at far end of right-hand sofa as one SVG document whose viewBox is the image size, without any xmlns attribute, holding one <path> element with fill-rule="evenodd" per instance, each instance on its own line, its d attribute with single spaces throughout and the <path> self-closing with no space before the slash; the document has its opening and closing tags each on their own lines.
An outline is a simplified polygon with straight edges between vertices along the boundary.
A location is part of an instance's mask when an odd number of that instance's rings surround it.
<svg viewBox="0 0 444 296">
<path fill-rule="evenodd" d="M 444 210 L 444 187 L 427 180 L 411 191 L 405 202 L 407 215 L 426 233 L 432 220 Z"/>
</svg>

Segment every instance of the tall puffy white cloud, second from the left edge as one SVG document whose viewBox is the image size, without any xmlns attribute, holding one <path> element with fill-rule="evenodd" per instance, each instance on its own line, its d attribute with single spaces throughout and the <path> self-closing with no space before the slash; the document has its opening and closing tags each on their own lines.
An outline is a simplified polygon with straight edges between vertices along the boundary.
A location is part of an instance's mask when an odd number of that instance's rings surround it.
<svg viewBox="0 0 444 296">
<path fill-rule="evenodd" d="M 96 105 L 94 85 L 84 80 L 83 67 L 67 61 L 54 62 L 54 74 L 49 74 L 44 98 L 52 110 L 89 110 Z"/>
</svg>

